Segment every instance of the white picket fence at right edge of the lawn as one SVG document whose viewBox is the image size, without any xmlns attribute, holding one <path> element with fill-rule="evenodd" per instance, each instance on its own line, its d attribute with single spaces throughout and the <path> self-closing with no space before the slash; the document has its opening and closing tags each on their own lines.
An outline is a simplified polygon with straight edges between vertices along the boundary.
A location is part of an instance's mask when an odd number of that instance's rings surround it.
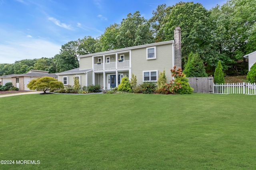
<svg viewBox="0 0 256 170">
<path fill-rule="evenodd" d="M 255 83 L 225 83 L 214 84 L 214 94 L 256 94 Z"/>
</svg>

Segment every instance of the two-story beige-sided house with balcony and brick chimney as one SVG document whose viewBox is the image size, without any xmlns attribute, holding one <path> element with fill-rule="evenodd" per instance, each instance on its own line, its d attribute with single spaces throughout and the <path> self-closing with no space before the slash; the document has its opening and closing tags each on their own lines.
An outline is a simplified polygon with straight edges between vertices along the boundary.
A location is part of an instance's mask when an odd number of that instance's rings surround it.
<svg viewBox="0 0 256 170">
<path fill-rule="evenodd" d="M 79 68 L 56 73 L 64 85 L 73 85 L 77 77 L 81 86 L 100 84 L 103 90 L 117 87 L 122 78 L 137 76 L 137 83 L 157 82 L 159 72 L 166 70 L 167 82 L 172 79 L 170 69 L 181 67 L 180 27 L 174 30 L 174 40 L 116 49 L 78 56 Z"/>
</svg>

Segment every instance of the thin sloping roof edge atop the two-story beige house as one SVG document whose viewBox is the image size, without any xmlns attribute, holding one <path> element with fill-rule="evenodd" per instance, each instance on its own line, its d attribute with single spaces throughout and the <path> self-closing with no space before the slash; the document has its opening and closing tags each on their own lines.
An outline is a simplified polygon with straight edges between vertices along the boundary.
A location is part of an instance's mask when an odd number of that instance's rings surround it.
<svg viewBox="0 0 256 170">
<path fill-rule="evenodd" d="M 91 57 L 91 56 L 97 56 L 97 55 L 104 55 L 104 54 L 109 54 L 109 53 L 110 54 L 111 53 L 118 53 L 118 52 L 126 51 L 126 50 L 141 49 L 141 48 L 146 48 L 146 47 L 154 47 L 154 46 L 158 46 L 158 45 L 166 45 L 166 44 L 172 44 L 172 43 L 174 43 L 174 40 L 163 41 L 163 42 L 159 42 L 159 43 L 145 44 L 145 45 L 137 45 L 137 46 L 133 46 L 133 47 L 126 47 L 126 48 L 122 48 L 122 49 L 104 51 L 104 52 L 99 52 L 99 53 L 80 55 L 80 56 L 78 56 L 78 58 Z"/>
</svg>

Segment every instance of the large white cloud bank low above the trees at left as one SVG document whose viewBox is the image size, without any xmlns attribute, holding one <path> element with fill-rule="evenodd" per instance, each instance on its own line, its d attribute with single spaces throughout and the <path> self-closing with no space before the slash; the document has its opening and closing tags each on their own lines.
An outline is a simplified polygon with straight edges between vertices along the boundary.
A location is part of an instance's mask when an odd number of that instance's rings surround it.
<svg viewBox="0 0 256 170">
<path fill-rule="evenodd" d="M 12 64 L 23 59 L 54 57 L 60 52 L 61 45 L 41 39 L 13 41 L 0 44 L 0 63 Z"/>
</svg>

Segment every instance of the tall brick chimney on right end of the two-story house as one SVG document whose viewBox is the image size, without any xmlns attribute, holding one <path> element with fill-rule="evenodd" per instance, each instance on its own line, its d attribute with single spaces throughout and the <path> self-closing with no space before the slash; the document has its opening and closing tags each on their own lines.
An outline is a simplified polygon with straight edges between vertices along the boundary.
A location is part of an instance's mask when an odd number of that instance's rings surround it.
<svg viewBox="0 0 256 170">
<path fill-rule="evenodd" d="M 175 27 L 174 29 L 174 65 L 177 68 L 182 68 L 181 66 L 181 31 L 180 27 Z"/>
</svg>

